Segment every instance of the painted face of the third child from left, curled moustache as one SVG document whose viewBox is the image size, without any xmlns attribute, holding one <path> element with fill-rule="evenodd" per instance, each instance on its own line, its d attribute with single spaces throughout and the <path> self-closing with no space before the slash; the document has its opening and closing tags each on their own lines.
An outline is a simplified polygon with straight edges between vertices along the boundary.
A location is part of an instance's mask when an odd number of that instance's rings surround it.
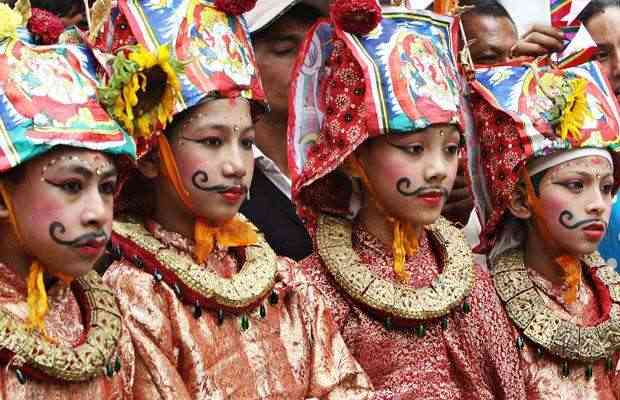
<svg viewBox="0 0 620 400">
<path fill-rule="evenodd" d="M 360 148 L 360 161 L 385 211 L 413 225 L 435 222 L 456 178 L 459 139 L 456 127 L 435 125 L 382 136 Z"/>
</svg>

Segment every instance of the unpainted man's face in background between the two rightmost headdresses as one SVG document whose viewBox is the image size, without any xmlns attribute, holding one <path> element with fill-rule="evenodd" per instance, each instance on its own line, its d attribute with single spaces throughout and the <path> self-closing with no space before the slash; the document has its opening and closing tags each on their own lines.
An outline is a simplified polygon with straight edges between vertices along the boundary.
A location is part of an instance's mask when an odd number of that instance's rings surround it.
<svg viewBox="0 0 620 400">
<path fill-rule="evenodd" d="M 490 65 L 506 62 L 510 49 L 517 42 L 517 31 L 508 18 L 463 14 L 463 29 L 475 64 Z"/>
</svg>

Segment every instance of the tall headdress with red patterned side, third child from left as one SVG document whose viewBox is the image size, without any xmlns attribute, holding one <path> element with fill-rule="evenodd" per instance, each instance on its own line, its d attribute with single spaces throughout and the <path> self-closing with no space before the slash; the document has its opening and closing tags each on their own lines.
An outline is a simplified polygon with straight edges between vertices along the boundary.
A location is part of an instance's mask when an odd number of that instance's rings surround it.
<svg viewBox="0 0 620 400">
<path fill-rule="evenodd" d="M 337 1 L 310 29 L 288 127 L 293 200 L 307 219 L 349 214 L 351 182 L 334 171 L 369 138 L 433 124 L 464 131 L 457 35 L 455 18 L 375 0 Z"/>
</svg>

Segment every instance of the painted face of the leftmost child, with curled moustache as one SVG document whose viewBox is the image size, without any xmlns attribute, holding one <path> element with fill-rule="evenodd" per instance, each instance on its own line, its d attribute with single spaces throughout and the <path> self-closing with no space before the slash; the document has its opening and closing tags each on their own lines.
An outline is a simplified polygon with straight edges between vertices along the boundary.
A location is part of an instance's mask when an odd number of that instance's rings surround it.
<svg viewBox="0 0 620 400">
<path fill-rule="evenodd" d="M 62 148 L 24 168 L 9 192 L 28 254 L 51 273 L 89 272 L 112 231 L 117 180 L 112 160 L 96 151 Z"/>
</svg>

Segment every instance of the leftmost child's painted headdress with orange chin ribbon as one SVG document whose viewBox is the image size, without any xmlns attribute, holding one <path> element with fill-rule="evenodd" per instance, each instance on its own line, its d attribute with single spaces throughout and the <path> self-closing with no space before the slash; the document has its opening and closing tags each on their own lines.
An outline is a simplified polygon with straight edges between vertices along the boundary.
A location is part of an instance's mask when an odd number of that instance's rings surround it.
<svg viewBox="0 0 620 400">
<path fill-rule="evenodd" d="M 134 159 L 134 141 L 98 103 L 92 52 L 80 44 L 32 37 L 25 26 L 34 24 L 36 32 L 40 21 L 30 18 L 27 1 L 19 1 L 14 10 L 0 4 L 0 174 L 57 146 Z M 41 39 L 48 45 L 34 44 Z M 22 240 L 1 183 L 0 193 Z M 34 260 L 28 276 L 29 323 L 40 329 L 47 311 L 43 270 Z"/>
</svg>

